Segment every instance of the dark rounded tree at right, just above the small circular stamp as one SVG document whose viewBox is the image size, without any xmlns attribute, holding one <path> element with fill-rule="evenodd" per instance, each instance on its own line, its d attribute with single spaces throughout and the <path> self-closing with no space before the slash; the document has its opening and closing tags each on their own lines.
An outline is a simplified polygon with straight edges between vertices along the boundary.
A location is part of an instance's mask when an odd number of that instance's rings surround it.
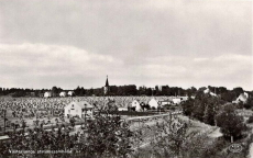
<svg viewBox="0 0 253 158">
<path fill-rule="evenodd" d="M 231 138 L 231 143 L 233 143 L 233 138 L 242 136 L 242 132 L 246 128 L 243 116 L 237 114 L 233 104 L 226 105 L 216 116 L 216 120 L 223 135 Z"/>
</svg>

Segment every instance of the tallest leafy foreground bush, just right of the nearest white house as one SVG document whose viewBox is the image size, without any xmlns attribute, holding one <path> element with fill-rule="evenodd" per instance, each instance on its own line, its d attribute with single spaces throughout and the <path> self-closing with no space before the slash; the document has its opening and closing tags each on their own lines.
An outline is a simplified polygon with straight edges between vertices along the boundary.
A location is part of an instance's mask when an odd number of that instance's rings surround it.
<svg viewBox="0 0 253 158">
<path fill-rule="evenodd" d="M 119 115 L 97 113 L 86 127 L 80 147 L 85 157 L 127 157 L 131 153 L 132 132 Z"/>
</svg>

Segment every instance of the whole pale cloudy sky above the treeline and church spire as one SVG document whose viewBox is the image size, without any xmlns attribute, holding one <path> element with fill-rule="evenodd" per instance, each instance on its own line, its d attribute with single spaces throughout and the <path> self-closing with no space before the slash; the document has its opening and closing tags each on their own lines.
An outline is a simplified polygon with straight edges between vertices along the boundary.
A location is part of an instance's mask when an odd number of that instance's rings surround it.
<svg viewBox="0 0 253 158">
<path fill-rule="evenodd" d="M 251 1 L 1 0 L 0 87 L 253 90 Z"/>
</svg>

